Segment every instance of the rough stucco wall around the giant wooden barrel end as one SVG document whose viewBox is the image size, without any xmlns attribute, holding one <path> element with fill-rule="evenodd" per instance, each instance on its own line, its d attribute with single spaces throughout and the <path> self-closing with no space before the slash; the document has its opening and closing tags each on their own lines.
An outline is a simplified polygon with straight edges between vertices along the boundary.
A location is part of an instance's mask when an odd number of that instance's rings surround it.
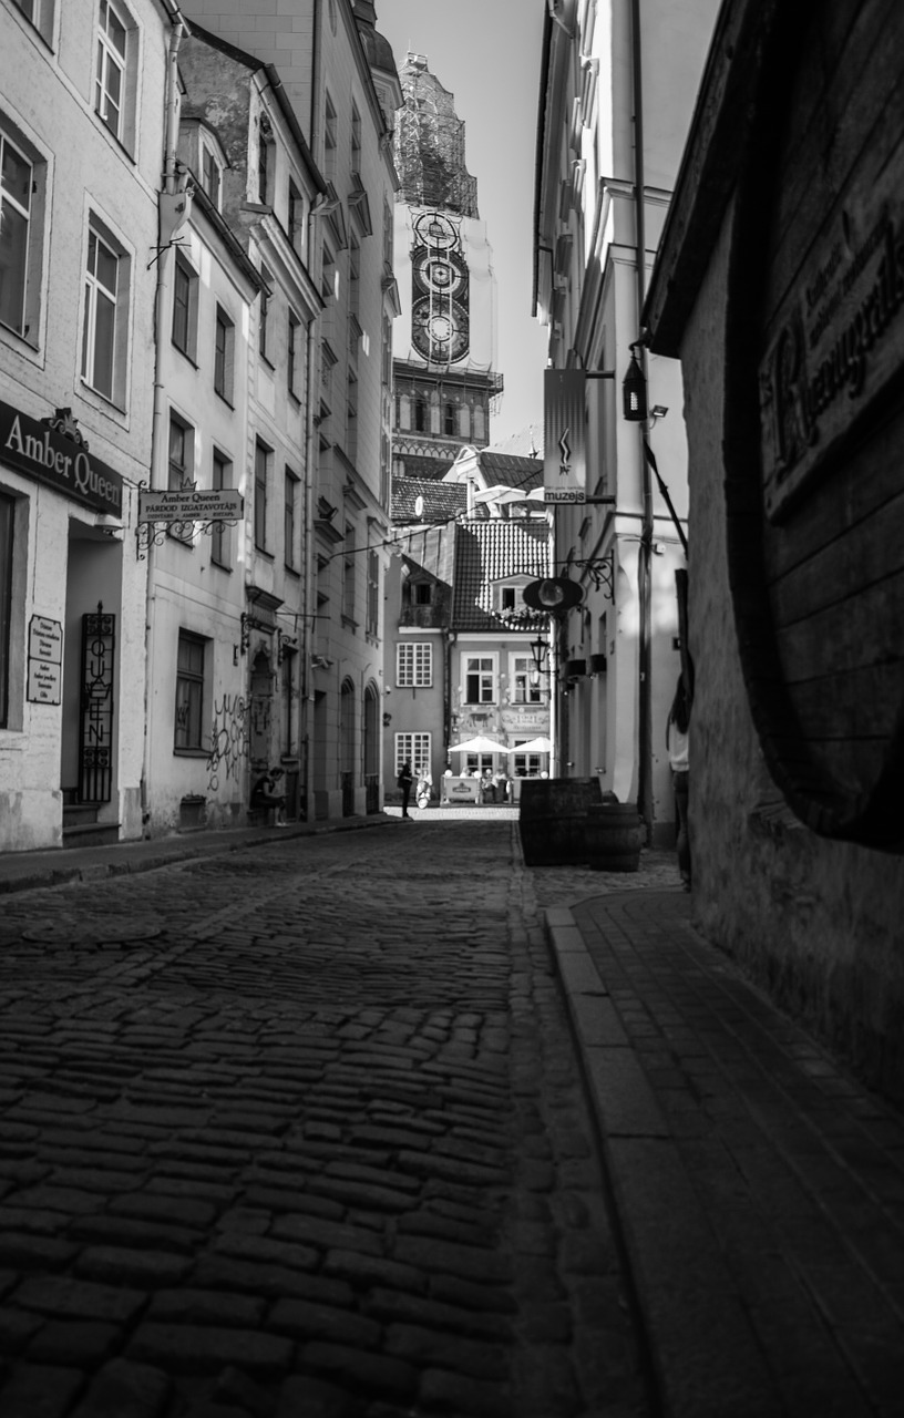
<svg viewBox="0 0 904 1418">
<path fill-rule="evenodd" d="M 690 452 L 693 912 L 779 1004 L 904 1100 L 904 868 L 830 842 L 781 803 L 750 715 L 731 611 L 723 479 L 728 214 L 682 347 Z"/>
</svg>

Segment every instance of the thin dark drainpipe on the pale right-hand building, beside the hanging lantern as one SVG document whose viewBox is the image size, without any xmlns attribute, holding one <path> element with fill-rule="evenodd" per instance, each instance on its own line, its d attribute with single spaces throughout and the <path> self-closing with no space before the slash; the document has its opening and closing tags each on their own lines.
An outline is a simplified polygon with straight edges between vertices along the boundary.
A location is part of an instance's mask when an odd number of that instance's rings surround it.
<svg viewBox="0 0 904 1418">
<path fill-rule="evenodd" d="M 642 340 L 640 319 L 646 295 L 646 211 L 643 200 L 643 61 L 640 50 L 640 0 L 631 0 L 631 68 L 635 125 L 635 241 L 638 281 L 638 339 Z M 648 376 L 646 346 L 639 346 L 639 364 Z M 638 563 L 640 600 L 640 642 L 638 648 L 638 811 L 646 824 L 646 839 L 653 838 L 653 713 L 652 713 L 652 571 L 653 556 L 653 486 L 646 461 L 646 420 L 638 424 L 643 520 Z"/>
</svg>

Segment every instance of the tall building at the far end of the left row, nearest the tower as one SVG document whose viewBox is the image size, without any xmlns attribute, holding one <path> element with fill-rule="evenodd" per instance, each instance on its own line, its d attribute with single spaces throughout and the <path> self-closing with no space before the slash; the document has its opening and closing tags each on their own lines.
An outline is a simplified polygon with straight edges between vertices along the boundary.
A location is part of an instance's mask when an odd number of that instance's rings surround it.
<svg viewBox="0 0 904 1418">
<path fill-rule="evenodd" d="M 366 0 L 293 6 L 194 0 L 184 9 L 220 41 L 276 67 L 326 183 L 312 208 L 309 252 L 323 311 L 305 522 L 310 590 L 299 640 L 307 647 L 299 681 L 305 686 L 299 747 L 310 766 L 302 797 L 312 817 L 373 811 L 380 800 L 383 576 L 398 308 L 391 149 L 398 77 Z M 268 618 L 278 610 L 266 597 L 255 605 Z"/>
</svg>

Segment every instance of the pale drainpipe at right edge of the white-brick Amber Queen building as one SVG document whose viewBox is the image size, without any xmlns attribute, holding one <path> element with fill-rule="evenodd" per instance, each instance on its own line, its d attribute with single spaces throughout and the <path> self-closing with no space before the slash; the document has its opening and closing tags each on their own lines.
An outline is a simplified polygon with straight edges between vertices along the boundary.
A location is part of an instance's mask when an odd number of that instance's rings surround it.
<svg viewBox="0 0 904 1418">
<path fill-rule="evenodd" d="M 179 170 L 176 164 L 176 153 L 179 150 L 179 50 L 181 47 L 183 35 L 186 34 L 186 20 L 177 4 L 170 9 L 173 18 L 173 30 L 170 34 L 170 45 L 166 64 L 166 106 L 164 106 L 164 129 L 163 129 L 163 193 L 173 194 L 177 190 Z M 157 240 L 160 240 L 160 216 L 157 207 Z M 170 289 L 170 271 L 171 271 L 171 250 L 157 251 L 157 289 L 154 292 L 154 396 L 153 396 L 153 411 L 150 424 L 150 485 L 152 488 L 162 486 L 160 479 L 160 462 L 163 457 L 163 450 L 166 447 L 162 428 L 163 428 L 163 410 L 164 410 L 164 390 L 160 373 L 160 350 L 163 345 L 163 326 L 166 319 L 169 289 Z M 136 529 L 137 530 L 137 529 Z M 142 828 L 145 828 L 150 820 L 150 811 L 147 808 L 147 770 L 150 761 L 150 726 L 152 726 L 152 705 L 150 705 L 150 676 L 149 666 L 153 664 L 153 564 L 154 564 L 154 549 L 153 540 L 149 539 L 147 545 L 147 576 L 145 583 L 145 754 L 142 763 Z M 142 832 L 145 835 L 145 832 Z"/>
</svg>

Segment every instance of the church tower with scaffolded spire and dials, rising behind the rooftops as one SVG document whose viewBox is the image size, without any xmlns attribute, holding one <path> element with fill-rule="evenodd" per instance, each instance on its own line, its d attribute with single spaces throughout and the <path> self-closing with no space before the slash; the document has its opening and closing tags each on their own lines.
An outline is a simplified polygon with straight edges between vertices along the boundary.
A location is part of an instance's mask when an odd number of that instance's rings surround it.
<svg viewBox="0 0 904 1418">
<path fill-rule="evenodd" d="M 503 387 L 493 372 L 496 278 L 453 95 L 421 54 L 405 57 L 400 79 L 392 471 L 442 478 L 465 444 L 489 444 Z"/>
</svg>

